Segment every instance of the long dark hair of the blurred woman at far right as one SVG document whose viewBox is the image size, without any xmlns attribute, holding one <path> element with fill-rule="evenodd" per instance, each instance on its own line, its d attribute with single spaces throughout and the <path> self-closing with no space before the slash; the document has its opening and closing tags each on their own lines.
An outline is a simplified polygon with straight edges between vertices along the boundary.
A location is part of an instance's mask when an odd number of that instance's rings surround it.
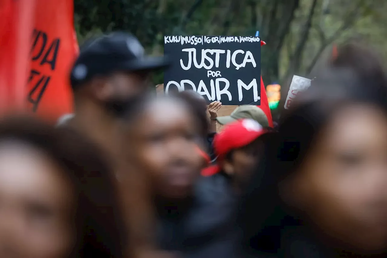
<svg viewBox="0 0 387 258">
<path fill-rule="evenodd" d="M 316 136 L 337 110 L 346 105 L 366 104 L 387 115 L 387 80 L 378 60 L 362 48 L 341 49 L 336 60 L 320 71 L 310 88 L 281 115 L 278 132 L 272 134 L 266 146 L 264 160 L 239 209 L 238 223 L 247 252 L 276 252 L 281 229 L 299 223 L 281 201 L 278 184 L 303 162 Z M 365 67 L 353 65 L 349 53 L 356 53 Z"/>
</svg>

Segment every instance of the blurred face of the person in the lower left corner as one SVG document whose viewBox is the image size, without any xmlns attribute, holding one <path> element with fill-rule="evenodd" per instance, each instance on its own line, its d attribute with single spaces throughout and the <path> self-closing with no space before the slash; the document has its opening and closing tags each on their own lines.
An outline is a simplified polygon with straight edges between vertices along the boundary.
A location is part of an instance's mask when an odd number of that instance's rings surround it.
<svg viewBox="0 0 387 258">
<path fill-rule="evenodd" d="M 68 257 L 73 201 L 70 182 L 45 155 L 0 144 L 0 257 Z"/>
</svg>

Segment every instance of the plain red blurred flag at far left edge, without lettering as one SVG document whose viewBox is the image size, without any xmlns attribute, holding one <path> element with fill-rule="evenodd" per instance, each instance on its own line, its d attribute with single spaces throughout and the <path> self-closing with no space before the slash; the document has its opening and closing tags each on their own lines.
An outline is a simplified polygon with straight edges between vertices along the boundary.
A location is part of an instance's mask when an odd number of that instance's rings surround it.
<svg viewBox="0 0 387 258">
<path fill-rule="evenodd" d="M 35 0 L 0 1 L 0 110 L 22 111 Z"/>
</svg>

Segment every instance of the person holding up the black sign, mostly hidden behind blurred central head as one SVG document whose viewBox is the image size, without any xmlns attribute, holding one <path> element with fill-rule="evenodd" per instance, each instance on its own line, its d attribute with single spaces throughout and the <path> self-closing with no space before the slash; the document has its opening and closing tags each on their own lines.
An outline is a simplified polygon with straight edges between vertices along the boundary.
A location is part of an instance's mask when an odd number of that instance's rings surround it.
<svg viewBox="0 0 387 258">
<path fill-rule="evenodd" d="M 200 136 L 201 139 L 204 140 L 204 153 L 202 154 L 205 159 L 205 163 L 207 164 L 213 162 L 216 159 L 216 155 L 214 154 L 212 142 L 214 141 L 214 137 L 216 135 L 217 112 L 222 107 L 222 103 L 220 101 L 213 101 L 207 107 L 204 97 L 194 90 L 178 92 L 177 96 L 187 101 L 192 110 L 195 111 L 195 114 L 200 122 Z M 209 116 L 207 115 L 207 112 Z M 200 146 L 202 145 L 200 144 Z M 207 155 L 205 155 L 206 153 Z"/>
</svg>

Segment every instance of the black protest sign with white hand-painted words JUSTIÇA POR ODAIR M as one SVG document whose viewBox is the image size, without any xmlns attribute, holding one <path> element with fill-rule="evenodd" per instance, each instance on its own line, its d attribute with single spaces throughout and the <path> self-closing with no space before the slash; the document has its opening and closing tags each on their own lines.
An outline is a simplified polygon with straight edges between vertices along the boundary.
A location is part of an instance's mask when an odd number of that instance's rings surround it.
<svg viewBox="0 0 387 258">
<path fill-rule="evenodd" d="M 259 37 L 164 36 L 164 91 L 194 89 L 208 103 L 260 105 Z"/>
</svg>

